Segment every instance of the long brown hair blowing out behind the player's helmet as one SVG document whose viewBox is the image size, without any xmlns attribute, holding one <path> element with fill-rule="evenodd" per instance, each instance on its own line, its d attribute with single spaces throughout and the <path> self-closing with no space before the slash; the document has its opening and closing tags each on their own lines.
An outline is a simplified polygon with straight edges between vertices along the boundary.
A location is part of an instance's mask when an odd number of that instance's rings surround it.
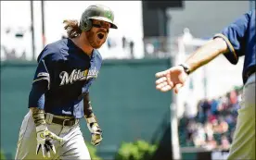
<svg viewBox="0 0 256 160">
<path fill-rule="evenodd" d="M 63 23 L 65 24 L 64 29 L 67 31 L 69 38 L 77 37 L 82 33 L 82 30 L 79 28 L 78 20 L 66 19 Z"/>
</svg>

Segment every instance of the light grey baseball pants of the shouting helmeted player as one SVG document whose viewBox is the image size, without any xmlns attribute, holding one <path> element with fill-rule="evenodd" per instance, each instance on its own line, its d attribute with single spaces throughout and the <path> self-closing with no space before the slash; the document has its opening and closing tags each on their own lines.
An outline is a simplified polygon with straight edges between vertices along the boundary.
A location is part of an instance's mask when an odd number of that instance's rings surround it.
<svg viewBox="0 0 256 160">
<path fill-rule="evenodd" d="M 48 158 L 45 155 L 43 157 L 42 151 L 39 154 L 36 153 L 36 131 L 35 125 L 32 119 L 31 112 L 29 112 L 23 119 L 21 128 L 19 130 L 19 142 L 15 159 L 57 159 L 57 160 L 90 160 L 89 151 L 83 140 L 83 133 L 77 122 L 74 126 L 61 126 L 51 123 L 53 115 L 47 114 L 45 117 L 47 128 L 54 132 L 59 137 L 63 138 L 63 142 L 54 141 L 56 148 L 56 154 L 51 151 L 51 157 Z"/>
</svg>

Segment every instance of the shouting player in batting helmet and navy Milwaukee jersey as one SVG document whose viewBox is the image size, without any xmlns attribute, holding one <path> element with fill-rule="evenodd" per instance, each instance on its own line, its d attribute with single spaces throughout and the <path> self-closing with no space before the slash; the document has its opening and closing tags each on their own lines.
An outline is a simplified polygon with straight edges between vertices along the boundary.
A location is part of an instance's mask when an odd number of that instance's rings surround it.
<svg viewBox="0 0 256 160">
<path fill-rule="evenodd" d="M 90 154 L 79 122 L 85 118 L 94 145 L 102 141 L 89 99 L 102 58 L 96 50 L 109 29 L 117 29 L 108 6 L 85 9 L 80 23 L 64 20 L 68 38 L 45 46 L 29 95 L 30 111 L 24 117 L 15 159 L 83 159 Z"/>
</svg>

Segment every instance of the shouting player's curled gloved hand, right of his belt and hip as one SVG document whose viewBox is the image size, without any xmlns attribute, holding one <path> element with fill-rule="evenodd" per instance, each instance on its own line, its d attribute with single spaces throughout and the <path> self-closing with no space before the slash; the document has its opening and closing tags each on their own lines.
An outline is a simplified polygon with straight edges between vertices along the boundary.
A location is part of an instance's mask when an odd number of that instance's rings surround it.
<svg viewBox="0 0 256 160">
<path fill-rule="evenodd" d="M 87 124 L 88 129 L 91 131 L 92 134 L 92 141 L 91 143 L 96 146 L 102 141 L 102 130 L 99 128 L 96 122 Z"/>
</svg>

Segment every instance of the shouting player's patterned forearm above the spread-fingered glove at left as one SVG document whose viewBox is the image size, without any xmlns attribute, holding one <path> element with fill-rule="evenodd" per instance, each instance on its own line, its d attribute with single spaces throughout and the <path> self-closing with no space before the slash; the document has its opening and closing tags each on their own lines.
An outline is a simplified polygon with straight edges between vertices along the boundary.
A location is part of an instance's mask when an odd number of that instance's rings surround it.
<svg viewBox="0 0 256 160">
<path fill-rule="evenodd" d="M 45 124 L 45 110 L 38 107 L 31 107 L 30 111 L 32 113 L 32 118 L 35 126 L 40 126 Z"/>
</svg>

